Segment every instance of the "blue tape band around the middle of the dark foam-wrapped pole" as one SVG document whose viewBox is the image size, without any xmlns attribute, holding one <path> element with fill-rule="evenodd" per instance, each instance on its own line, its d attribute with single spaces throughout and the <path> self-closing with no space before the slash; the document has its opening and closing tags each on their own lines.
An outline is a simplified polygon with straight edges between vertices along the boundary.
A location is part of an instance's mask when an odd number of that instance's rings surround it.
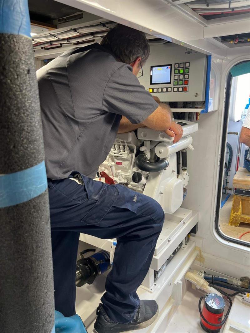
<svg viewBox="0 0 250 333">
<path fill-rule="evenodd" d="M 0 208 L 31 200 L 47 186 L 44 161 L 22 171 L 0 175 Z"/>
</svg>

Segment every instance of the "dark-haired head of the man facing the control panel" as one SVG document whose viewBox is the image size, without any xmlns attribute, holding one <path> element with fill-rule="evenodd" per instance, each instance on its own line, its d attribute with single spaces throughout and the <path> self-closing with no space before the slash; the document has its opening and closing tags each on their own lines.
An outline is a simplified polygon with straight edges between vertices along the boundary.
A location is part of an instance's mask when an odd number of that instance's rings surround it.
<svg viewBox="0 0 250 333">
<path fill-rule="evenodd" d="M 149 57 L 149 44 L 143 32 L 118 24 L 101 41 L 118 61 L 129 64 L 137 75 Z"/>
</svg>

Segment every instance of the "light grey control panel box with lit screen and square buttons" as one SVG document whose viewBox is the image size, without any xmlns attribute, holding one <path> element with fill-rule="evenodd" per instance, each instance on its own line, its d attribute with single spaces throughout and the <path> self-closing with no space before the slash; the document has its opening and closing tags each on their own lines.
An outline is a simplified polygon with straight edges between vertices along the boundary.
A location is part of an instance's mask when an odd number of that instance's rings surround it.
<svg viewBox="0 0 250 333">
<path fill-rule="evenodd" d="M 173 43 L 153 45 L 140 83 L 162 102 L 205 100 L 205 54 Z"/>
</svg>

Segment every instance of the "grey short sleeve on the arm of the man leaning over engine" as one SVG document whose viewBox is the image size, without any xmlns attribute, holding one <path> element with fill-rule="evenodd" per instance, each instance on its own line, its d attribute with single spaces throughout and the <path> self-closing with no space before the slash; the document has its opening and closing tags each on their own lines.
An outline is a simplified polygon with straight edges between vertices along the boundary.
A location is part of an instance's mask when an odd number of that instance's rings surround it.
<svg viewBox="0 0 250 333">
<path fill-rule="evenodd" d="M 139 124 L 159 105 L 129 67 L 121 65 L 110 77 L 103 94 L 103 110 L 125 116 L 132 124 Z"/>
</svg>

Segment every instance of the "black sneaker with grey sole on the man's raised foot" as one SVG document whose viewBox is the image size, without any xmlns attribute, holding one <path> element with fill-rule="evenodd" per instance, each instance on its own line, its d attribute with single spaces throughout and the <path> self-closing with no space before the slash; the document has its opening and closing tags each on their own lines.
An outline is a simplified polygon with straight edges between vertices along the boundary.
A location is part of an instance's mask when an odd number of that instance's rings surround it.
<svg viewBox="0 0 250 333">
<path fill-rule="evenodd" d="M 141 300 L 132 322 L 123 324 L 112 321 L 104 312 L 102 304 L 97 308 L 94 328 L 97 333 L 120 333 L 145 328 L 157 318 L 159 309 L 154 300 Z"/>
</svg>

